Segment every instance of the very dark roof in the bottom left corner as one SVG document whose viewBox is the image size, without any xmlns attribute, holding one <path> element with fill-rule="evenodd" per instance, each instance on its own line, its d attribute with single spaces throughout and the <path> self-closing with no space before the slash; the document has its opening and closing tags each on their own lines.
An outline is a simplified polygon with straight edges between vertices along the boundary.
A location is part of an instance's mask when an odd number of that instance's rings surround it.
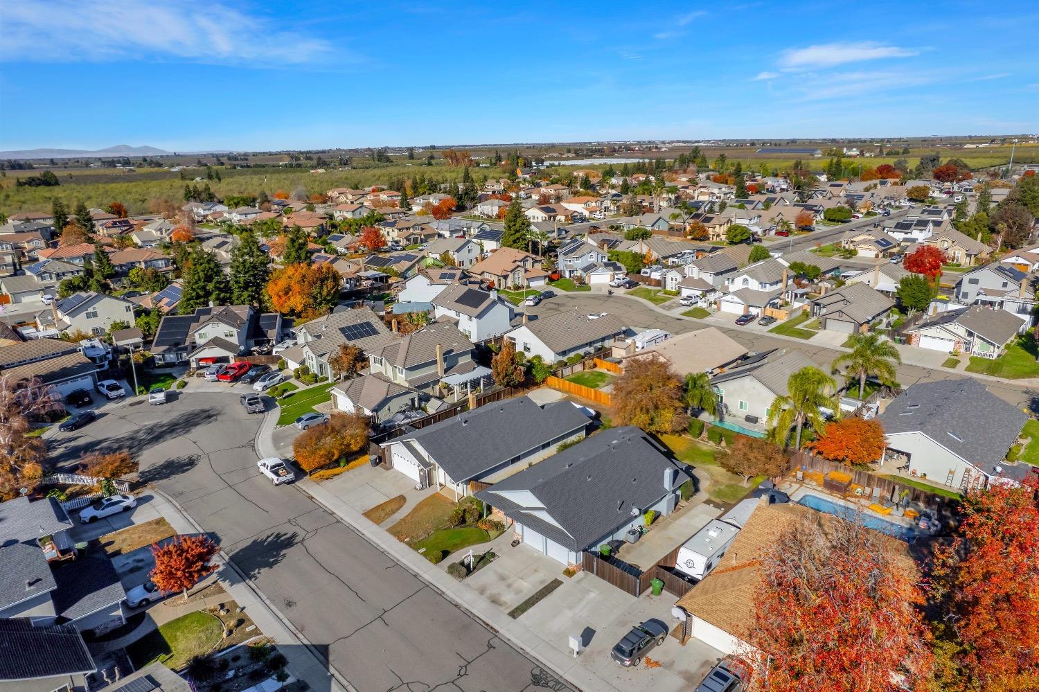
<svg viewBox="0 0 1039 692">
<path fill-rule="evenodd" d="M 33 627 L 27 617 L 0 619 L 0 681 L 88 673 L 94 659 L 75 627 Z"/>
</svg>

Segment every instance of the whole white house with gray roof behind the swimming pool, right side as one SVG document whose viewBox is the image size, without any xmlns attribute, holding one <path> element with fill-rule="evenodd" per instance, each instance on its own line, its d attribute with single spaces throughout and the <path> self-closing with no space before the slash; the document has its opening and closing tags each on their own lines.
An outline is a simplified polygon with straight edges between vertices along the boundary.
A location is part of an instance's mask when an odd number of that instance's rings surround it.
<svg viewBox="0 0 1039 692">
<path fill-rule="evenodd" d="M 933 483 L 968 490 L 1035 472 L 1006 460 L 1028 414 L 971 377 L 913 384 L 877 420 L 887 441 L 882 464 L 908 463 L 911 475 Z"/>
</svg>

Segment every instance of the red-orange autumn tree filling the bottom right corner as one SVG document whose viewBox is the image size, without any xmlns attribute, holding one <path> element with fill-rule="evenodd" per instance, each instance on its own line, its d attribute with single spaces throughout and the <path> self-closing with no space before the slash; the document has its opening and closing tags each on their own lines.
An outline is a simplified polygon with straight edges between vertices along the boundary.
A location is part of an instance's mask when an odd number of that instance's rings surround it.
<svg viewBox="0 0 1039 692">
<path fill-rule="evenodd" d="M 967 495 L 937 551 L 937 647 L 949 692 L 1039 689 L 1039 477 Z"/>
</svg>

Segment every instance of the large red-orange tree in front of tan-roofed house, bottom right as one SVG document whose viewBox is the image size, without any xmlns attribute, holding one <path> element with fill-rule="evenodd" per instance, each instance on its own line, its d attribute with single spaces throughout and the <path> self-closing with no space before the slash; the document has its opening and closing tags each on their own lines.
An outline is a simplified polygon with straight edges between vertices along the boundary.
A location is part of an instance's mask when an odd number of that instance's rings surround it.
<svg viewBox="0 0 1039 692">
<path fill-rule="evenodd" d="M 904 543 L 816 514 L 779 533 L 756 566 L 744 640 L 761 692 L 895 692 L 927 687 L 924 594 Z"/>
</svg>

